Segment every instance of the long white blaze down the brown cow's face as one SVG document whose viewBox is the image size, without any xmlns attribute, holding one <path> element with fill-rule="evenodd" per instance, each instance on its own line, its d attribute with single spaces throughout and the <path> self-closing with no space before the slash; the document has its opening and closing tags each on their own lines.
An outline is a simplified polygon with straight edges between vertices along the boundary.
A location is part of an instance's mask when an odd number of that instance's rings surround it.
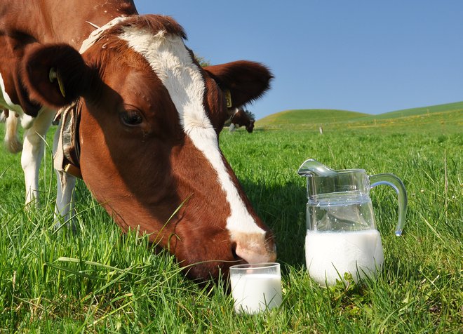
<svg viewBox="0 0 463 334">
<path fill-rule="evenodd" d="M 227 173 L 218 147 L 217 134 L 203 106 L 203 76 L 194 65 L 182 38 L 163 31 L 154 35 L 132 27 L 127 27 L 120 37 L 128 42 L 130 48 L 143 55 L 151 65 L 169 92 L 184 132 L 217 171 L 218 182 L 227 196 L 231 209 L 231 215 L 227 218 L 229 232 L 264 234 L 264 230 L 257 226 L 248 212 L 238 189 Z"/>
</svg>

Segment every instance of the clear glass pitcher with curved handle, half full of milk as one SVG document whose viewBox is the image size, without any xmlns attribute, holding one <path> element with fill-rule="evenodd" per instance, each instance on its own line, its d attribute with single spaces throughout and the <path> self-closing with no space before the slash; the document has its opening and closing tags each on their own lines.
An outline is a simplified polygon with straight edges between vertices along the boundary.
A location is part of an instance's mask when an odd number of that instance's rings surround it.
<svg viewBox="0 0 463 334">
<path fill-rule="evenodd" d="M 402 181 L 392 174 L 367 175 L 363 169 L 335 171 L 314 159 L 297 172 L 307 178 L 306 264 L 309 275 L 322 286 L 344 280 L 375 277 L 384 262 L 380 232 L 369 196 L 377 185 L 389 185 L 398 194 L 401 236 L 407 210 Z"/>
</svg>

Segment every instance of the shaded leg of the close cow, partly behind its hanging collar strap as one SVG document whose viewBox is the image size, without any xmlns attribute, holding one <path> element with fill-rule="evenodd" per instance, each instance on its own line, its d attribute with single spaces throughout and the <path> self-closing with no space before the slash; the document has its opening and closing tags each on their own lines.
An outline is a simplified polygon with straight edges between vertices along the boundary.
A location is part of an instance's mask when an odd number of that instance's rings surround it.
<svg viewBox="0 0 463 334">
<path fill-rule="evenodd" d="M 55 140 L 53 140 L 53 156 L 58 148 L 58 138 L 60 136 L 61 122 L 55 133 Z M 67 222 L 74 214 L 74 187 L 76 185 L 76 178 L 58 171 L 55 169 L 57 180 L 56 192 L 56 206 L 55 206 L 55 227 L 60 227 L 62 222 Z"/>
</svg>

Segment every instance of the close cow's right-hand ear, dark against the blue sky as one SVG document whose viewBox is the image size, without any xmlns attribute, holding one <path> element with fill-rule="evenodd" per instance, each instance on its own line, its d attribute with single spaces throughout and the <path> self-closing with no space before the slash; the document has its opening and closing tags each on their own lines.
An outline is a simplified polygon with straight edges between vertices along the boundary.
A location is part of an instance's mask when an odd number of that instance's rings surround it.
<svg viewBox="0 0 463 334">
<path fill-rule="evenodd" d="M 258 62 L 239 60 L 204 67 L 222 90 L 231 98 L 231 107 L 240 107 L 260 98 L 270 88 L 273 75 Z M 230 105 L 228 105 L 230 107 Z"/>
</svg>

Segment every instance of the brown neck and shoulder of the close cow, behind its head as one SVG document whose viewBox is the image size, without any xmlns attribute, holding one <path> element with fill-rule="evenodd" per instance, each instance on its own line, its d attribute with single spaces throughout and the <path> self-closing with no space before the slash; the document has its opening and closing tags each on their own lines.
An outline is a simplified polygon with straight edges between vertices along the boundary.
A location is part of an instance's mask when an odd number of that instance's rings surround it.
<svg viewBox="0 0 463 334">
<path fill-rule="evenodd" d="M 22 58 L 29 48 L 66 43 L 79 49 L 95 29 L 86 21 L 102 26 L 118 16 L 136 13 L 131 0 L 0 1 L 0 73 L 12 102 L 31 116 L 41 107 L 29 96 L 22 77 Z"/>
</svg>

